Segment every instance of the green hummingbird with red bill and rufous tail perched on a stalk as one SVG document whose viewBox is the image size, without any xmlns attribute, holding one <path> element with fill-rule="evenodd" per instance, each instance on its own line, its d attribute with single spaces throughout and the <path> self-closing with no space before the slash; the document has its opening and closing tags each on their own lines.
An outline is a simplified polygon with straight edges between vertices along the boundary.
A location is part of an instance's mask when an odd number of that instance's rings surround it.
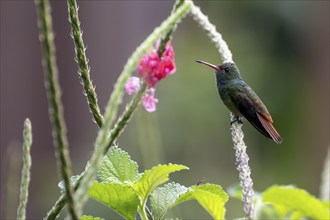
<svg viewBox="0 0 330 220">
<path fill-rule="evenodd" d="M 241 117 L 246 118 L 261 134 L 281 144 L 283 139 L 273 126 L 273 119 L 265 104 L 251 87 L 243 81 L 234 63 L 228 62 L 220 66 L 202 60 L 196 62 L 213 68 L 220 98 L 226 107 L 234 114 L 231 123 L 242 123 Z"/>
</svg>

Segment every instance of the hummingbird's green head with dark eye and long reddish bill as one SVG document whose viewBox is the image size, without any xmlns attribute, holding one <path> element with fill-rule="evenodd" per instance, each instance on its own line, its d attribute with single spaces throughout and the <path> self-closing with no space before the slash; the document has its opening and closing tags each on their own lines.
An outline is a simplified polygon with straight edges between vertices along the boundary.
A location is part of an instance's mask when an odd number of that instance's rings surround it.
<svg viewBox="0 0 330 220">
<path fill-rule="evenodd" d="M 227 81 L 232 79 L 239 79 L 241 78 L 239 70 L 234 63 L 224 63 L 220 66 L 213 65 L 211 63 L 207 63 L 202 60 L 196 60 L 197 63 L 204 64 L 206 66 L 211 67 L 216 71 L 217 79 L 221 81 Z"/>
</svg>

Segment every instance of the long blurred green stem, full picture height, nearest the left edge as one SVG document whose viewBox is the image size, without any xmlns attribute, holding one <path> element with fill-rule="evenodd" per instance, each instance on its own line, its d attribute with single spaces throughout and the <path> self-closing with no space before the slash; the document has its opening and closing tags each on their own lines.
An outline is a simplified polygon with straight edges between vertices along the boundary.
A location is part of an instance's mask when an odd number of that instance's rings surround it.
<svg viewBox="0 0 330 220">
<path fill-rule="evenodd" d="M 78 219 L 75 208 L 73 189 L 70 184 L 71 161 L 69 156 L 66 126 L 61 102 L 61 88 L 58 81 L 56 66 L 54 34 L 52 18 L 48 0 L 35 1 L 38 9 L 40 41 L 43 47 L 43 67 L 45 73 L 45 85 L 49 100 L 49 115 L 53 127 L 53 139 L 56 151 L 58 170 L 63 178 L 65 193 L 68 200 L 69 212 L 72 219 Z"/>
</svg>

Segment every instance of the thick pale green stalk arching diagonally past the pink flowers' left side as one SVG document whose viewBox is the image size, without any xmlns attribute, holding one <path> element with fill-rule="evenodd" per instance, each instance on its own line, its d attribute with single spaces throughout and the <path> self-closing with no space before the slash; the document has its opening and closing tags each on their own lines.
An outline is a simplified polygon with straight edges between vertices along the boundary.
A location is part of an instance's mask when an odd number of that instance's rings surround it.
<svg viewBox="0 0 330 220">
<path fill-rule="evenodd" d="M 118 129 L 114 128 L 115 132 L 113 135 L 110 134 L 109 130 L 113 124 L 115 116 L 117 115 L 118 107 L 121 104 L 122 96 L 124 94 L 124 87 L 127 79 L 131 75 L 131 73 L 135 70 L 140 58 L 145 54 L 148 49 L 159 39 L 162 34 L 173 28 L 174 25 L 179 23 L 181 19 L 188 13 L 190 10 L 190 2 L 184 2 L 177 10 L 172 13 L 159 27 L 157 27 L 151 35 L 136 49 L 136 51 L 132 54 L 131 58 L 128 60 L 127 64 L 124 67 L 122 74 L 119 76 L 113 93 L 109 99 L 107 104 L 104 121 L 101 129 L 99 130 L 96 142 L 94 144 L 95 151 L 90 160 L 90 166 L 86 169 L 85 175 L 82 177 L 80 181 L 80 187 L 78 188 L 75 198 L 79 201 L 78 208 L 81 210 L 88 199 L 88 194 L 86 193 L 90 188 L 92 181 L 96 177 L 97 169 L 100 166 L 102 161 L 102 157 L 108 151 L 111 146 L 111 143 L 114 141 L 113 136 L 118 136 L 126 125 L 128 119 L 131 117 L 134 109 L 132 111 L 128 109 L 129 116 L 124 115 L 124 117 L 119 119 Z M 144 85 L 144 84 L 143 84 Z M 140 91 L 143 91 L 144 86 L 141 87 Z M 142 98 L 143 93 L 138 93 L 137 96 Z M 140 98 L 140 100 L 141 100 Z M 137 101 L 136 105 L 139 103 Z M 134 103 L 135 104 L 135 103 Z M 123 121 L 123 123 L 120 123 Z M 81 214 L 81 213 L 79 213 Z"/>
</svg>

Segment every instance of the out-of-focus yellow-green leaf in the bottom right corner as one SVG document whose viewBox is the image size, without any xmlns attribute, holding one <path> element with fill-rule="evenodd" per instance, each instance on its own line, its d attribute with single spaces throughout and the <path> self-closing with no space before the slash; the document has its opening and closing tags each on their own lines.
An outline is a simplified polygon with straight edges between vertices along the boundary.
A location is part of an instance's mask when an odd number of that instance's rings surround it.
<svg viewBox="0 0 330 220">
<path fill-rule="evenodd" d="M 302 189 L 292 186 L 272 186 L 263 193 L 263 201 L 300 212 L 305 217 L 329 219 L 330 210 L 324 203 Z"/>
</svg>

